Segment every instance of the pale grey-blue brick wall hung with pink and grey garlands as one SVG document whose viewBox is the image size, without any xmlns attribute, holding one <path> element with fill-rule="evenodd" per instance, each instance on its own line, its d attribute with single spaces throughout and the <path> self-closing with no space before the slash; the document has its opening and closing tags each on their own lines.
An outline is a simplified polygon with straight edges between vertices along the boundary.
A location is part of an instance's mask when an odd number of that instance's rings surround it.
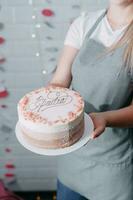
<svg viewBox="0 0 133 200">
<path fill-rule="evenodd" d="M 16 140 L 17 103 L 52 77 L 72 21 L 107 2 L 0 0 L 0 179 L 10 190 L 56 191 L 57 157 L 36 155 Z"/>
</svg>

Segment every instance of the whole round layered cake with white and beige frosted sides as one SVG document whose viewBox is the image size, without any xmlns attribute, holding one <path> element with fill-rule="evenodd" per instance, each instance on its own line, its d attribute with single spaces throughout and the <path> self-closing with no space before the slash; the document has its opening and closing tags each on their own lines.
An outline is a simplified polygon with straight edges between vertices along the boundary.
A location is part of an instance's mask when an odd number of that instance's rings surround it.
<svg viewBox="0 0 133 200">
<path fill-rule="evenodd" d="M 29 144 L 45 149 L 68 147 L 84 133 L 84 100 L 68 88 L 43 87 L 20 99 L 18 118 Z"/>
</svg>

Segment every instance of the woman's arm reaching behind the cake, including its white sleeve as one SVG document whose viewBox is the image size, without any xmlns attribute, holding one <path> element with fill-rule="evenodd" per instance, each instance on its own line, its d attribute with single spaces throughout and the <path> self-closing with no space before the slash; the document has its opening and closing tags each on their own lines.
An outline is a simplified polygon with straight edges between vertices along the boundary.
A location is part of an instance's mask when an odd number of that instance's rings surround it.
<svg viewBox="0 0 133 200">
<path fill-rule="evenodd" d="M 71 67 L 82 43 L 84 17 L 79 16 L 70 25 L 64 40 L 64 48 L 61 51 L 57 63 L 56 72 L 50 84 L 69 87 L 72 80 Z"/>
</svg>

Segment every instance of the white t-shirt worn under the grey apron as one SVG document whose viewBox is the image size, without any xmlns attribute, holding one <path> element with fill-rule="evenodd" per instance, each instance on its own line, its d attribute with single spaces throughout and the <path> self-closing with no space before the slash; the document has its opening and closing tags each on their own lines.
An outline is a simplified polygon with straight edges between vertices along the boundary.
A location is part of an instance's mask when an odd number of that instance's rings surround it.
<svg viewBox="0 0 133 200">
<path fill-rule="evenodd" d="M 86 34 L 103 12 L 105 12 L 105 9 L 84 13 L 76 18 L 70 25 L 64 45 L 80 49 Z M 97 28 L 91 34 L 90 38 L 93 38 L 94 40 L 104 44 L 106 47 L 109 47 L 122 36 L 126 27 L 127 26 L 124 26 L 120 29 L 113 30 L 108 22 L 107 16 L 105 15 Z"/>
</svg>

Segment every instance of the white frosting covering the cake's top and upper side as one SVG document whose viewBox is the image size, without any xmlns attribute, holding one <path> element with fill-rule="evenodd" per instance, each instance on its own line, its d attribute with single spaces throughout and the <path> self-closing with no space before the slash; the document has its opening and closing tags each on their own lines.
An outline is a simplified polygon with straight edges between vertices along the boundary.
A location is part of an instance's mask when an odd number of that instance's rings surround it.
<svg viewBox="0 0 133 200">
<path fill-rule="evenodd" d="M 24 104 L 26 98 L 27 102 Z M 32 120 L 27 113 L 33 113 L 40 119 Z M 74 113 L 74 116 L 71 117 L 71 113 Z M 70 130 L 80 123 L 83 114 L 82 97 L 75 91 L 60 87 L 41 88 L 30 92 L 18 104 L 20 125 L 43 134 Z M 44 123 L 43 119 L 47 122 Z"/>
</svg>

